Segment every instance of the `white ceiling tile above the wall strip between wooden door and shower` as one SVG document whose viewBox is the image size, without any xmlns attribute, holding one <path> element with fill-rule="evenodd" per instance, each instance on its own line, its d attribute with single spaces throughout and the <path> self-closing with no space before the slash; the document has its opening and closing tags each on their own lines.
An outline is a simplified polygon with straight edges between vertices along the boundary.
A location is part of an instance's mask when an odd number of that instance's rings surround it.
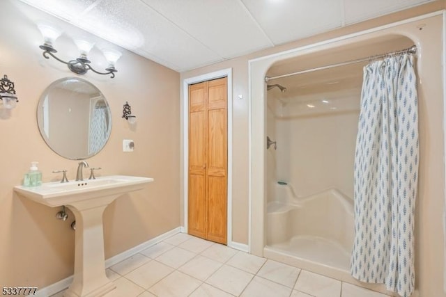
<svg viewBox="0 0 446 297">
<path fill-rule="evenodd" d="M 271 47 L 240 0 L 142 0 L 223 58 Z"/>
</svg>

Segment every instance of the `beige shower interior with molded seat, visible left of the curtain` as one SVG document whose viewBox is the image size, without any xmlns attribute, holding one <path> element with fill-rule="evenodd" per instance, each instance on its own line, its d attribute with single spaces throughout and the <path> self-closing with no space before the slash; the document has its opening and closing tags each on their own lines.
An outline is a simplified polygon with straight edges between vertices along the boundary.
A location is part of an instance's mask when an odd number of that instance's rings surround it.
<svg viewBox="0 0 446 297">
<path fill-rule="evenodd" d="M 364 63 L 358 64 L 267 86 L 266 131 L 277 145 L 266 150 L 268 252 L 348 271 Z"/>
</svg>

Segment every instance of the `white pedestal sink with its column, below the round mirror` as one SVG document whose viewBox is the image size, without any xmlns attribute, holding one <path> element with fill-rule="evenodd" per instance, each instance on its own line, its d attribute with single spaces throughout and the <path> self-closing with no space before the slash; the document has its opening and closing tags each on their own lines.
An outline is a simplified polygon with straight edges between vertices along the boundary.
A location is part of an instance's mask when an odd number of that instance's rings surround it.
<svg viewBox="0 0 446 297">
<path fill-rule="evenodd" d="M 140 190 L 148 182 L 153 182 L 153 179 L 114 175 L 82 182 L 49 182 L 36 187 L 14 187 L 14 191 L 35 202 L 49 207 L 65 205 L 75 214 L 75 273 L 65 296 L 103 296 L 115 288 L 105 275 L 102 214 L 116 198 Z"/>
</svg>

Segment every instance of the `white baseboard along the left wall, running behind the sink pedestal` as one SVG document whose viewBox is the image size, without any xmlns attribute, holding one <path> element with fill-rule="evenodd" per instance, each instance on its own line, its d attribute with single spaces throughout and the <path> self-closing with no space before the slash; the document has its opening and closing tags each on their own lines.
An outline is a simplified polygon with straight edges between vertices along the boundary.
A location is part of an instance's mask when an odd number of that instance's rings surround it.
<svg viewBox="0 0 446 297">
<path fill-rule="evenodd" d="M 159 243 L 160 241 L 163 241 L 164 239 L 169 238 L 170 236 L 183 232 L 184 227 L 177 227 L 173 230 L 170 230 L 166 233 L 163 233 L 159 236 L 156 236 L 153 239 L 150 239 L 144 243 L 139 244 L 138 246 L 135 246 L 134 248 L 130 248 L 126 250 L 125 252 L 121 252 L 121 254 L 114 255 L 113 257 L 105 260 L 105 268 L 109 268 L 110 266 L 113 266 L 114 264 L 117 264 L 124 259 L 127 259 L 128 257 L 132 257 L 133 255 L 136 255 L 138 252 L 141 252 L 145 250 L 146 248 L 150 248 L 151 246 L 154 246 L 155 244 Z M 38 291 L 36 291 L 36 297 L 48 297 L 52 296 L 60 291 L 63 291 L 64 289 L 68 288 L 70 284 L 72 283 L 72 275 L 68 278 L 64 278 L 63 280 L 59 280 L 59 282 L 54 282 L 54 284 L 50 284 L 47 287 L 44 287 Z"/>
</svg>

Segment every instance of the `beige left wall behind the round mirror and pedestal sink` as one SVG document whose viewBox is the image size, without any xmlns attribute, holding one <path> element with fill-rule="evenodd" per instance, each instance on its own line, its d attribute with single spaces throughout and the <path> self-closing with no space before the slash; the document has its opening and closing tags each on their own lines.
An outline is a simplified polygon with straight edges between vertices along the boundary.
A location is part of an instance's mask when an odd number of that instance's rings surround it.
<svg viewBox="0 0 446 297">
<path fill-rule="evenodd" d="M 14 81 L 20 102 L 8 111 L 0 106 L 0 287 L 45 287 L 73 273 L 75 232 L 70 229 L 74 216 L 66 222 L 56 220 L 56 212 L 13 192 L 21 184 L 31 161 L 39 161 L 43 182 L 61 179 L 52 170 L 68 170 L 75 178 L 77 161 L 54 153 L 40 136 L 36 108 L 38 99 L 50 83 L 73 77 L 66 65 L 45 60 L 38 45 L 42 37 L 34 19 L 56 19 L 27 8 L 19 1 L 0 1 L 3 24 L 0 39 L 0 75 Z M 63 24 L 62 24 L 63 25 Z M 65 25 L 66 31 L 75 32 Z M 77 32 L 82 33 L 82 32 Z M 86 33 L 84 33 L 86 34 Z M 95 38 L 98 47 L 108 45 Z M 77 49 L 66 34 L 56 40 L 61 58 L 75 58 Z M 99 70 L 105 58 L 95 47 L 89 55 Z M 112 257 L 139 243 L 180 225 L 179 188 L 179 74 L 121 49 L 114 79 L 93 72 L 85 74 L 107 98 L 112 111 L 112 134 L 96 156 L 86 161 L 100 166 L 98 175 L 138 175 L 155 182 L 118 198 L 105 210 L 105 256 Z M 130 127 L 121 119 L 125 101 L 137 115 Z M 123 139 L 135 143 L 133 153 L 122 152 Z M 88 177 L 88 171 L 84 175 Z"/>
</svg>

